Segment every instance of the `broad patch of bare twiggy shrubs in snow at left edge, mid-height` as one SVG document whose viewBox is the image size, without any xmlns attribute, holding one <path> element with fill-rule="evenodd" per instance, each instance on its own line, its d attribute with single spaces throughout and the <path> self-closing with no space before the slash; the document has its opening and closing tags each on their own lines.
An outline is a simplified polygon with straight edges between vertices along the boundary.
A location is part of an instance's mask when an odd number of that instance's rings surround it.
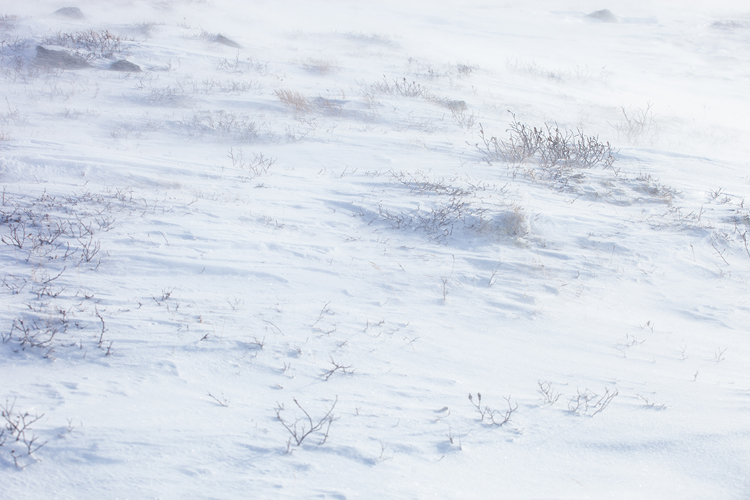
<svg viewBox="0 0 750 500">
<path fill-rule="evenodd" d="M 111 352 L 104 338 L 104 311 L 94 304 L 92 313 L 86 304 L 94 294 L 70 287 L 80 283 L 82 273 L 95 272 L 102 264 L 105 252 L 98 235 L 114 227 L 117 205 L 116 200 L 91 193 L 26 197 L 3 192 L 0 251 L 17 265 L 7 266 L 0 279 L 2 290 L 16 304 L 23 303 L 22 311 L 2 329 L 3 343 L 42 349 L 51 358 L 57 347 L 78 345 L 84 350 L 83 337 L 90 336 L 106 354 Z M 67 279 L 70 269 L 77 269 L 75 279 Z M 79 319 L 78 314 L 86 311 L 88 318 Z M 93 325 L 98 325 L 97 334 L 82 337 L 82 331 Z M 74 336 L 74 331 L 81 334 Z"/>
</svg>

